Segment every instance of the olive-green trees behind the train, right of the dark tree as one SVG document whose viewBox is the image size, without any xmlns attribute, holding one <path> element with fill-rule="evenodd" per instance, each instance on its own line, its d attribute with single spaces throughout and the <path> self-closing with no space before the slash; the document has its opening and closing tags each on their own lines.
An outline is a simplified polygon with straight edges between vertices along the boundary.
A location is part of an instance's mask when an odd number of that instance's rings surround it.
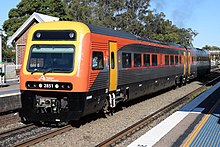
<svg viewBox="0 0 220 147">
<path fill-rule="evenodd" d="M 198 33 L 178 28 L 164 13 L 149 9 L 149 0 L 64 0 L 71 20 L 91 23 L 164 42 L 192 46 Z"/>
</svg>

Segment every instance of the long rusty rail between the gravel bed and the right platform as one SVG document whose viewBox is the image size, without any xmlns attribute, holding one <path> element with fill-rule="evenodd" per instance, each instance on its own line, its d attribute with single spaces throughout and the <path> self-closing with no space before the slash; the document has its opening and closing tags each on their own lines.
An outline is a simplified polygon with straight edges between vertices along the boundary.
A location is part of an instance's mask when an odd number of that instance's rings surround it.
<svg viewBox="0 0 220 147">
<path fill-rule="evenodd" d="M 164 108 L 154 112 L 153 114 L 145 117 L 144 119 L 138 121 L 137 123 L 129 126 L 128 128 L 124 129 L 123 131 L 117 133 L 116 135 L 108 138 L 107 140 L 101 142 L 100 144 L 96 145 L 97 147 L 106 147 L 106 146 L 116 146 L 117 144 L 123 142 L 123 140 L 127 139 L 132 134 L 138 132 L 145 126 L 149 125 L 153 121 L 155 121 L 157 118 L 165 115 L 167 112 L 179 107 L 180 105 L 183 105 L 185 103 L 188 103 L 192 99 L 194 99 L 197 95 L 201 94 L 205 90 L 208 89 L 211 85 L 214 85 L 215 83 L 220 81 L 220 76 L 213 79 L 210 82 L 207 82 L 205 85 L 201 86 L 200 88 L 194 90 L 193 92 L 187 94 L 186 96 L 178 99 L 177 101 L 165 106 Z"/>
</svg>

